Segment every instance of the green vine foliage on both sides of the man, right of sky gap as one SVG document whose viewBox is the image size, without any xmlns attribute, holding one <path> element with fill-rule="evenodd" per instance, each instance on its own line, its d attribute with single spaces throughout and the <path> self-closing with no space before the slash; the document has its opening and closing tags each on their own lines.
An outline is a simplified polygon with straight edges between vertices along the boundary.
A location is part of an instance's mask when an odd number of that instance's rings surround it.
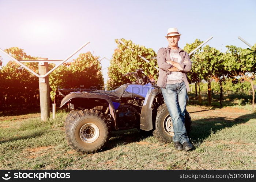
<svg viewBox="0 0 256 182">
<path fill-rule="evenodd" d="M 121 75 L 143 68 L 144 72 L 157 81 L 158 71 L 154 68 L 157 66 L 155 59 L 156 53 L 151 48 L 146 48 L 132 43 L 131 40 L 121 39 L 125 46 L 118 42 L 114 50 L 110 66 L 108 68 L 109 89 L 116 88 L 124 83 L 129 82 L 128 78 L 122 78 Z M 203 41 L 196 39 L 193 43 L 187 43 L 184 50 L 188 53 L 199 46 Z M 129 46 L 133 51 L 127 48 Z M 248 81 L 252 89 L 252 105 L 254 109 L 255 90 L 253 80 L 256 75 L 256 44 L 252 48 L 242 49 L 236 46 L 226 46 L 227 51 L 221 52 L 208 45 L 197 50 L 191 55 L 192 70 L 188 72 L 190 83 L 197 84 L 208 82 L 208 104 L 211 105 L 211 82 L 214 80 L 219 83 L 220 104 L 222 106 L 223 84 L 226 80 L 232 79 L 233 83 Z M 142 60 L 140 56 L 145 57 L 150 63 Z M 131 78 L 132 79 L 132 78 Z"/>
</svg>

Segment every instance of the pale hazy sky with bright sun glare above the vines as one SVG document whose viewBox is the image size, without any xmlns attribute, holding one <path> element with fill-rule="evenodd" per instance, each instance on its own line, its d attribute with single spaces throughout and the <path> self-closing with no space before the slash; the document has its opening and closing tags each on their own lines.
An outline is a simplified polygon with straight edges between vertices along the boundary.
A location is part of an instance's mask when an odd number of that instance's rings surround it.
<svg viewBox="0 0 256 182">
<path fill-rule="evenodd" d="M 256 43 L 256 0 L 0 0 L 0 48 L 19 47 L 27 55 L 65 59 L 87 41 L 82 52 L 107 67 L 117 44 L 132 40 L 158 51 L 167 47 L 167 29 L 181 33 L 179 47 L 195 39 L 222 52 L 226 45 Z M 10 59 L 0 52 L 3 64 Z"/>
</svg>

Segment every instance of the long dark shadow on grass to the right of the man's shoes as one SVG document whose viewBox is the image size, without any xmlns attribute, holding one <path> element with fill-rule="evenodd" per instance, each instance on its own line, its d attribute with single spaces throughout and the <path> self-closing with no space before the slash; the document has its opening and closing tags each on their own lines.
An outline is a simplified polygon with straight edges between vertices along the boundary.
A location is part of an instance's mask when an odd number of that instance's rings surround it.
<svg viewBox="0 0 256 182">
<path fill-rule="evenodd" d="M 237 124 L 246 123 L 250 119 L 256 118 L 256 113 L 246 114 L 239 116 L 234 120 L 230 120 L 226 117 L 218 118 L 203 118 L 192 121 L 192 130 L 189 134 L 189 138 L 193 141 L 202 141 L 214 134 L 218 130 L 222 130 L 226 127 L 232 127 Z"/>
</svg>

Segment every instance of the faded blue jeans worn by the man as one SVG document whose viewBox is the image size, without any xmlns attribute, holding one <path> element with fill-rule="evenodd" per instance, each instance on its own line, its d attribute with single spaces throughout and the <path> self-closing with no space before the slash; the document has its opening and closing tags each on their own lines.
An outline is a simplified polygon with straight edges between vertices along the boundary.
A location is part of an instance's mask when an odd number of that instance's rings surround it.
<svg viewBox="0 0 256 182">
<path fill-rule="evenodd" d="M 185 128 L 185 111 L 187 88 L 185 82 L 168 84 L 166 88 L 161 88 L 163 99 L 172 117 L 173 122 L 173 142 L 189 142 Z"/>
</svg>

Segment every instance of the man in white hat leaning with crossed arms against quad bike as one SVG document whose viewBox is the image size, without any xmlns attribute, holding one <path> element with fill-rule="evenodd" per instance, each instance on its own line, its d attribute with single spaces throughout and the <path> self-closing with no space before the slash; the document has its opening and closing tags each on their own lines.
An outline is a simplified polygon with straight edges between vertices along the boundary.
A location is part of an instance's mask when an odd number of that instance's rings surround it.
<svg viewBox="0 0 256 182">
<path fill-rule="evenodd" d="M 169 28 L 165 36 L 169 46 L 160 48 L 157 53 L 157 63 L 160 68 L 157 86 L 161 87 L 172 117 L 175 149 L 189 151 L 193 146 L 187 137 L 184 123 L 187 91 L 190 91 L 186 72 L 191 70 L 192 64 L 188 53 L 178 47 L 180 35 L 177 28 Z"/>
</svg>

